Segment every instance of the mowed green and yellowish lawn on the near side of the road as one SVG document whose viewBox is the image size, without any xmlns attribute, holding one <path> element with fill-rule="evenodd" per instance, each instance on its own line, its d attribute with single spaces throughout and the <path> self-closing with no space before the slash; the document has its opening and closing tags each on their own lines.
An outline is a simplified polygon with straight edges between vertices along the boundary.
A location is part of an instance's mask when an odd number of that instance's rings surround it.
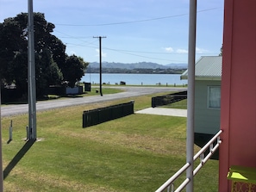
<svg viewBox="0 0 256 192">
<path fill-rule="evenodd" d="M 17 163 L 9 165 L 4 191 L 158 189 L 185 164 L 186 118 L 134 114 L 82 128 L 84 110 L 131 99 L 135 110 L 151 105 L 151 96 L 137 96 L 38 112 L 39 141 L 20 157 L 16 154 L 26 144 L 28 115 L 4 117 L 3 170 L 15 157 Z M 10 120 L 13 140 L 7 144 Z M 217 191 L 217 176 L 218 161 L 209 160 L 195 179 L 195 191 Z"/>
</svg>

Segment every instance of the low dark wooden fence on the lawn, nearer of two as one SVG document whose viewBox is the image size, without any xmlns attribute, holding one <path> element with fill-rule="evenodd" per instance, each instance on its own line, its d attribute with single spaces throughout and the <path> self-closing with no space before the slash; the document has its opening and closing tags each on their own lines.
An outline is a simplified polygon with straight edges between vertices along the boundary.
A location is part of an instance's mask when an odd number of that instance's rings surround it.
<svg viewBox="0 0 256 192">
<path fill-rule="evenodd" d="M 83 128 L 134 114 L 134 101 L 84 111 Z"/>
</svg>

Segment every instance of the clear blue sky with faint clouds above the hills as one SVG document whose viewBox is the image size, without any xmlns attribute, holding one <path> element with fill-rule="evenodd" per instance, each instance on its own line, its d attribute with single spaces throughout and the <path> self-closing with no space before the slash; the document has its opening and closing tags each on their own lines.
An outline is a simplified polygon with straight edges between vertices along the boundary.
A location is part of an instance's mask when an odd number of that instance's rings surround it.
<svg viewBox="0 0 256 192">
<path fill-rule="evenodd" d="M 188 62 L 189 0 L 34 0 L 34 12 L 55 25 L 68 55 L 103 62 Z M 222 47 L 224 0 L 197 0 L 197 54 Z M 28 0 L 0 0 L 0 22 L 28 12 Z"/>
</svg>

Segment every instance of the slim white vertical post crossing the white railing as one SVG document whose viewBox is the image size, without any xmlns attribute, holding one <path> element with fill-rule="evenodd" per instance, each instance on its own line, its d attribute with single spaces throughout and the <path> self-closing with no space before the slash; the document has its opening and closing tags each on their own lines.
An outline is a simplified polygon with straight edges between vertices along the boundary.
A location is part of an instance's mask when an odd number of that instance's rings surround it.
<svg viewBox="0 0 256 192">
<path fill-rule="evenodd" d="M 190 26 L 189 26 L 189 57 L 188 57 L 188 114 L 187 114 L 187 163 L 186 177 L 190 183 L 186 192 L 194 191 L 193 157 L 194 157 L 194 108 L 195 108 L 195 54 L 196 54 L 196 26 L 197 26 L 197 0 L 190 0 Z"/>
</svg>

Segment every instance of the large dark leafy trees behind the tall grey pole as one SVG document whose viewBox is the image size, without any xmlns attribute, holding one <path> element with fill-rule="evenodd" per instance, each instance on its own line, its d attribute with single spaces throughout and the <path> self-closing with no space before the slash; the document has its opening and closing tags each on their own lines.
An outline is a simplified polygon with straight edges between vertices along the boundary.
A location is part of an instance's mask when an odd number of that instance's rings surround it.
<svg viewBox="0 0 256 192">
<path fill-rule="evenodd" d="M 15 84 L 21 95 L 28 93 L 28 14 L 21 13 L 0 23 L 1 87 Z M 53 35 L 54 24 L 34 13 L 34 58 L 36 94 L 43 96 L 50 85 L 74 87 L 84 76 L 88 62 L 66 54 L 66 45 Z"/>
</svg>

